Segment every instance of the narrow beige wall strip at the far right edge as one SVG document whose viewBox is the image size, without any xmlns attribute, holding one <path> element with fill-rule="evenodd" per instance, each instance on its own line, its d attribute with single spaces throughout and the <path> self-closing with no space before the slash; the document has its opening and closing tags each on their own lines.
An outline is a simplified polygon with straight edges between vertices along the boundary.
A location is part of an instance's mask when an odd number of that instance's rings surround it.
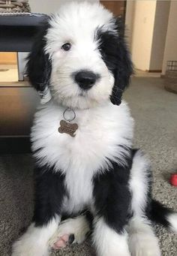
<svg viewBox="0 0 177 256">
<path fill-rule="evenodd" d="M 169 23 L 166 33 L 166 44 L 163 56 L 162 74 L 166 71 L 168 60 L 177 61 L 177 2 L 171 1 L 169 9 Z"/>
</svg>

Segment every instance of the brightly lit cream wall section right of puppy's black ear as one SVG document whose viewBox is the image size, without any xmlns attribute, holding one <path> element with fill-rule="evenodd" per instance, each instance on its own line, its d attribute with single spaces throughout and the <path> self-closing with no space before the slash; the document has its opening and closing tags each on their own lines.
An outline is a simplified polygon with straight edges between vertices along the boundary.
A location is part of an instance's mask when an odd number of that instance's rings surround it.
<svg viewBox="0 0 177 256">
<path fill-rule="evenodd" d="M 135 2 L 132 59 L 136 68 L 149 70 L 156 1 Z"/>
</svg>

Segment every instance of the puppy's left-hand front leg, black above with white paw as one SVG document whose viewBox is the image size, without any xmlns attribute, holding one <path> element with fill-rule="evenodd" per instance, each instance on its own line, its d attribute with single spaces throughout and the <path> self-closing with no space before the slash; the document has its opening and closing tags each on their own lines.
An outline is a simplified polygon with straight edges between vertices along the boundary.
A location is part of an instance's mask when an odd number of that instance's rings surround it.
<svg viewBox="0 0 177 256">
<path fill-rule="evenodd" d="M 33 223 L 13 244 L 12 256 L 46 256 L 49 238 L 60 221 L 64 177 L 52 170 L 37 170 Z"/>
</svg>

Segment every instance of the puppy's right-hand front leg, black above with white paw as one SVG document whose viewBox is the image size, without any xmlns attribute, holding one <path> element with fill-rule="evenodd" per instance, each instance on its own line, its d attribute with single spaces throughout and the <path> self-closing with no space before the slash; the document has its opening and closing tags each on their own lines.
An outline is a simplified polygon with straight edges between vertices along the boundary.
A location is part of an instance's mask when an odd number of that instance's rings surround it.
<svg viewBox="0 0 177 256">
<path fill-rule="evenodd" d="M 98 256 L 130 256 L 124 230 L 130 218 L 129 169 L 118 164 L 113 164 L 113 168 L 99 174 L 93 181 L 93 242 Z"/>
</svg>

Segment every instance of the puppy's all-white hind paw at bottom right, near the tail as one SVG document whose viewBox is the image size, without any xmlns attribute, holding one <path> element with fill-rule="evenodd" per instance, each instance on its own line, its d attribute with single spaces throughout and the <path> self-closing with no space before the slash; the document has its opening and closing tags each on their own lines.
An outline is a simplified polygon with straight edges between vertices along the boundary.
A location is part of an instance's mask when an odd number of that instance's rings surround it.
<svg viewBox="0 0 177 256">
<path fill-rule="evenodd" d="M 127 231 L 132 256 L 160 256 L 158 239 L 145 218 L 133 218 Z"/>
</svg>

